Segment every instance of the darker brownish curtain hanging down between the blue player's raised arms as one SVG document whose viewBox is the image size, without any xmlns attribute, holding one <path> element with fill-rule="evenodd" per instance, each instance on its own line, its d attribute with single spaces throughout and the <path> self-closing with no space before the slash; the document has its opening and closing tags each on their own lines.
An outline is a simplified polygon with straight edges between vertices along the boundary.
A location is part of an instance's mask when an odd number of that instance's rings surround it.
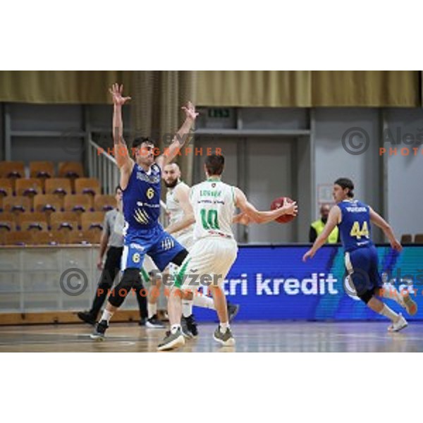
<svg viewBox="0 0 423 423">
<path fill-rule="evenodd" d="M 195 71 L 133 71 L 132 86 L 133 133 L 153 137 L 164 149 L 183 123 L 181 106 L 189 100 L 195 103 Z M 176 160 L 188 184 L 192 183 L 192 160 L 192 154 Z"/>
</svg>

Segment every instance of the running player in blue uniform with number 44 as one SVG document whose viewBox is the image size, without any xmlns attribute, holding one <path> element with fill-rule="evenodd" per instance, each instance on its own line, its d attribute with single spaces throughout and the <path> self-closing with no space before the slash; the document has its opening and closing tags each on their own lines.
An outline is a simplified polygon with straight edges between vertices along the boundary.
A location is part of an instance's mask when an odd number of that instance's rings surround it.
<svg viewBox="0 0 423 423">
<path fill-rule="evenodd" d="M 324 227 L 324 231 L 304 257 L 305 262 L 309 257 L 312 258 L 317 250 L 326 243 L 331 231 L 338 226 L 341 233 L 341 242 L 345 250 L 345 267 L 353 283 L 357 296 L 367 307 L 374 312 L 379 313 L 392 321 L 388 331 L 398 332 L 407 326 L 407 321 L 401 314 L 397 314 L 390 309 L 384 302 L 376 297 L 391 298 L 405 308 L 408 314 L 417 312 L 417 305 L 410 295 L 400 295 L 396 290 L 385 290 L 378 271 L 378 258 L 376 247 L 371 239 L 370 222 L 381 228 L 391 247 L 400 252 L 401 247 L 393 234 L 391 226 L 374 212 L 372 207 L 358 200 L 353 200 L 354 184 L 348 178 L 339 178 L 333 185 L 333 198 L 336 206 L 329 212 L 329 218 Z"/>
</svg>

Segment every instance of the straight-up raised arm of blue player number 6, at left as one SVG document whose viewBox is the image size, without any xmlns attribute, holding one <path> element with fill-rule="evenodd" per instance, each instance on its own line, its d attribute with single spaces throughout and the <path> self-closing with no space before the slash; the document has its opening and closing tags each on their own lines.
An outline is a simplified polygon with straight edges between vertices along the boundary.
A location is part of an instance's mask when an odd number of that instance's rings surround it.
<svg viewBox="0 0 423 423">
<path fill-rule="evenodd" d="M 113 99 L 113 141 L 114 141 L 114 156 L 116 164 L 121 171 L 121 188 L 124 190 L 128 185 L 130 172 L 133 169 L 134 161 L 130 158 L 128 147 L 123 139 L 123 119 L 122 106 L 125 102 L 130 100 L 130 97 L 123 97 L 123 85 L 119 87 L 118 84 L 112 85 L 109 92 Z"/>
</svg>

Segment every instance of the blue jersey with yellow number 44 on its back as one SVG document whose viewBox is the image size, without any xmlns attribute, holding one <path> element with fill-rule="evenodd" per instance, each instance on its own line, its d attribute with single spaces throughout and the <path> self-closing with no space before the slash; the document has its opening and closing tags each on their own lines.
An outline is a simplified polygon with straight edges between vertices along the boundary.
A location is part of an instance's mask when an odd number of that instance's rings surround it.
<svg viewBox="0 0 423 423">
<path fill-rule="evenodd" d="M 345 251 L 372 246 L 369 206 L 358 200 L 344 200 L 337 205 L 341 209 L 338 228 Z"/>
</svg>

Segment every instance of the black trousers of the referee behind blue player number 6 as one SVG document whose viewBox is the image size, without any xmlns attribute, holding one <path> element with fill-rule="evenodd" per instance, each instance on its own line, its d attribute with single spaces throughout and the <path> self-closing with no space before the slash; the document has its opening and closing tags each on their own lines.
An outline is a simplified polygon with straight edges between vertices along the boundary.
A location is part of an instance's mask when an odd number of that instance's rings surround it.
<svg viewBox="0 0 423 423">
<path fill-rule="evenodd" d="M 111 290 L 111 287 L 113 286 L 116 275 L 121 269 L 122 252 L 123 247 L 109 247 L 109 250 L 106 252 L 106 262 L 104 262 L 103 271 L 99 278 L 97 290 L 90 309 L 90 314 L 92 314 L 96 319 L 104 301 L 106 301 L 109 290 Z M 148 317 L 147 296 L 145 295 L 141 278 L 134 284 L 133 288 L 137 295 L 138 307 L 140 307 L 140 317 L 141 319 L 145 319 Z"/>
</svg>

